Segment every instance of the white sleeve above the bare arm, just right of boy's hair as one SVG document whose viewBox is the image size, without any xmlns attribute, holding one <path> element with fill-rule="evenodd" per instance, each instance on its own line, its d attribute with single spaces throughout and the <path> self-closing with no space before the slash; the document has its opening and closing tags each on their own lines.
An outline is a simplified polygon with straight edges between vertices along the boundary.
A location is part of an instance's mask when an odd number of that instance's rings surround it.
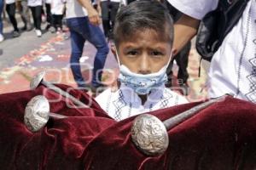
<svg viewBox="0 0 256 170">
<path fill-rule="evenodd" d="M 167 0 L 174 8 L 192 18 L 201 20 L 218 6 L 218 0 Z"/>
</svg>

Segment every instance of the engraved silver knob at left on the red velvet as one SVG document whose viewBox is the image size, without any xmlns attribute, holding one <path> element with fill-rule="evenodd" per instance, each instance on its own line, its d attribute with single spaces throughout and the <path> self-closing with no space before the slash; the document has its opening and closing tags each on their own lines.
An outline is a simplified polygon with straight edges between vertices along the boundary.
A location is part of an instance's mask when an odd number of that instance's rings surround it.
<svg viewBox="0 0 256 170">
<path fill-rule="evenodd" d="M 49 102 L 43 95 L 38 95 L 32 98 L 25 109 L 24 122 L 26 127 L 37 132 L 49 120 Z"/>
</svg>

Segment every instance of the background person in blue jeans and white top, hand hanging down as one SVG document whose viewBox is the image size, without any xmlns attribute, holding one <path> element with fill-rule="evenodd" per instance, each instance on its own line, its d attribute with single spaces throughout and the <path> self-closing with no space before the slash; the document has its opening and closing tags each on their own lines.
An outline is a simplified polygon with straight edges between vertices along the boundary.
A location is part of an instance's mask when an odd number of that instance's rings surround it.
<svg viewBox="0 0 256 170">
<path fill-rule="evenodd" d="M 66 18 L 71 38 L 70 64 L 74 80 L 80 88 L 89 87 L 94 92 L 96 88 L 102 87 L 102 69 L 109 51 L 108 44 L 99 26 L 101 24 L 100 15 L 93 8 L 90 0 L 67 0 Z M 97 50 L 90 84 L 84 82 L 79 64 L 86 40 L 94 45 Z"/>
</svg>

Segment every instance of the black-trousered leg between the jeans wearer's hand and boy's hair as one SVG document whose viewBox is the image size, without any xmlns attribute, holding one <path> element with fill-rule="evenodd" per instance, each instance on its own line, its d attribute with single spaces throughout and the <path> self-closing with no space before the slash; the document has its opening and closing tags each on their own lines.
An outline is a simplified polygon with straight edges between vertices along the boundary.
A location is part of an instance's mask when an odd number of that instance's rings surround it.
<svg viewBox="0 0 256 170">
<path fill-rule="evenodd" d="M 108 37 L 108 33 L 110 30 L 108 1 L 101 2 L 101 7 L 102 7 L 102 26 L 104 30 L 104 35 L 105 37 Z"/>
</svg>

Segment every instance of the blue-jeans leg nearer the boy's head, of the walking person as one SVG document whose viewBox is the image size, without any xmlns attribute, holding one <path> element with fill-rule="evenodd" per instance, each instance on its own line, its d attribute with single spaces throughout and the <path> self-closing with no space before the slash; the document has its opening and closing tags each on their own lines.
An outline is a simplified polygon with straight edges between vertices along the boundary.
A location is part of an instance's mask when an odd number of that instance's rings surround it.
<svg viewBox="0 0 256 170">
<path fill-rule="evenodd" d="M 91 25 L 87 17 L 84 25 L 86 26 L 83 30 L 84 37 L 97 49 L 91 82 L 92 86 L 96 88 L 102 85 L 102 69 L 104 68 L 109 48 L 99 26 Z"/>
</svg>

